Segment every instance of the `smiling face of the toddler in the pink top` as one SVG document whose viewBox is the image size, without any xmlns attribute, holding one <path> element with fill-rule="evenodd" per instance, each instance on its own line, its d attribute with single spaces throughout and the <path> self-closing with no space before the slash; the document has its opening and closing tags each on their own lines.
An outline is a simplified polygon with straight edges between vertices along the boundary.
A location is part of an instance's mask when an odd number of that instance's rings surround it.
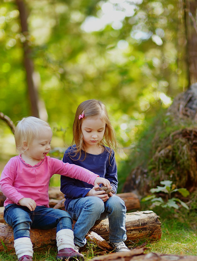
<svg viewBox="0 0 197 261">
<path fill-rule="evenodd" d="M 46 127 L 45 130 L 40 132 L 38 138 L 34 138 L 31 141 L 24 154 L 32 160 L 42 160 L 50 151 L 52 135 L 52 130 Z"/>
</svg>

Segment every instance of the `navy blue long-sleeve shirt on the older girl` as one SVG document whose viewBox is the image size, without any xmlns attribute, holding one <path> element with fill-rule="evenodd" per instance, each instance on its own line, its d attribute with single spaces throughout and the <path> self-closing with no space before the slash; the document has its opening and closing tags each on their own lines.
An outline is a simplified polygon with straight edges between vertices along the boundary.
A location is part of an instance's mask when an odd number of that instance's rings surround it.
<svg viewBox="0 0 197 261">
<path fill-rule="evenodd" d="M 76 146 L 70 146 L 64 154 L 63 162 L 68 162 L 70 164 L 75 164 L 83 168 L 89 169 L 90 171 L 98 174 L 100 177 L 108 179 L 111 186 L 117 192 L 118 187 L 118 177 L 117 177 L 117 166 L 115 161 L 114 150 L 110 156 L 110 149 L 105 147 L 103 153 L 94 155 L 82 151 L 82 156 L 78 160 L 78 155 L 74 157 L 74 150 Z M 71 153 L 70 153 L 71 152 Z M 110 157 L 110 161 L 109 161 Z M 80 181 L 78 179 L 61 176 L 61 187 L 60 190 L 65 194 L 65 208 L 67 209 L 69 202 L 73 198 L 85 197 L 86 194 L 93 188 L 93 185 L 86 182 Z"/>
</svg>

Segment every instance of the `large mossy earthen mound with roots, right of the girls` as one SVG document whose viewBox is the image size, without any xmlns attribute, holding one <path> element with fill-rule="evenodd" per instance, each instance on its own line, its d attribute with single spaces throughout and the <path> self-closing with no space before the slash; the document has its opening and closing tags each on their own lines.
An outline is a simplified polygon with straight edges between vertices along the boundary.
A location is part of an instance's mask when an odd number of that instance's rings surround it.
<svg viewBox="0 0 197 261">
<path fill-rule="evenodd" d="M 135 191 L 139 197 L 144 197 L 163 180 L 171 180 L 176 188 L 186 188 L 190 193 L 196 190 L 196 121 L 197 83 L 177 95 L 169 109 L 151 126 L 150 131 L 155 131 L 151 142 L 147 143 L 149 157 L 146 162 L 142 160 L 143 165 L 131 169 L 122 192 Z"/>
</svg>

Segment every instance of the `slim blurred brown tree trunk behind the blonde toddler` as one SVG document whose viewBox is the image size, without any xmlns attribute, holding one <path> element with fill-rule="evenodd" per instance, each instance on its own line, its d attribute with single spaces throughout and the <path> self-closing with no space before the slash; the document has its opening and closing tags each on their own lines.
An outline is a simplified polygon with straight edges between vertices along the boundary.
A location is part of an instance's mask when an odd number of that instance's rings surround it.
<svg viewBox="0 0 197 261">
<path fill-rule="evenodd" d="M 47 113 L 44 103 L 39 99 L 38 96 L 38 86 L 34 80 L 34 62 L 32 60 L 32 50 L 29 41 L 28 23 L 27 23 L 27 10 L 26 5 L 23 0 L 16 0 L 18 5 L 18 10 L 20 13 L 21 30 L 22 34 L 25 36 L 25 41 L 23 42 L 24 50 L 24 66 L 26 70 L 27 88 L 28 95 L 30 99 L 31 114 L 37 118 L 42 118 L 47 121 Z"/>
</svg>

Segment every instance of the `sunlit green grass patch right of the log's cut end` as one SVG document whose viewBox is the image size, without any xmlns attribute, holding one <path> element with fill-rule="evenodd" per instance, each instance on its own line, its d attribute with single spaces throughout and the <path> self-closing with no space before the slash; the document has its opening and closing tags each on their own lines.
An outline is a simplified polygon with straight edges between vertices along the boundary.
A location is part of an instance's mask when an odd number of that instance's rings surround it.
<svg viewBox="0 0 197 261">
<path fill-rule="evenodd" d="M 160 216 L 162 223 L 162 237 L 156 243 L 148 243 L 146 252 L 164 253 L 172 255 L 197 255 L 197 213 L 180 210 L 167 211 L 161 213 L 155 211 Z"/>
</svg>

